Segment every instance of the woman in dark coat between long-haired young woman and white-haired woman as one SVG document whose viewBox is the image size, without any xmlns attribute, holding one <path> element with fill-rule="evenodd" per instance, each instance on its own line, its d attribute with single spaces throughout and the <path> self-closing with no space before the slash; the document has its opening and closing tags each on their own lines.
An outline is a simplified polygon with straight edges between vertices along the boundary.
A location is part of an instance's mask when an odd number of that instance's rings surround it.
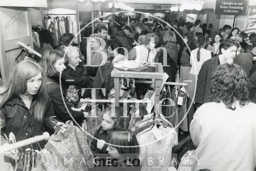
<svg viewBox="0 0 256 171">
<path fill-rule="evenodd" d="M 53 109 L 56 116 L 62 122 L 66 122 L 67 120 L 72 120 L 72 117 L 78 123 L 82 123 L 84 118 L 87 118 L 88 113 L 82 112 L 81 110 L 85 110 L 85 105 L 79 109 L 72 108 L 70 104 L 66 102 L 65 92 L 63 89 L 60 90 L 60 72 L 65 69 L 63 64 L 63 56 L 64 53 L 55 50 L 46 51 L 40 60 L 40 65 L 44 69 L 44 73 L 46 77 L 46 86 L 48 90 L 48 94 L 52 99 Z M 62 94 L 61 94 L 62 91 Z"/>
</svg>

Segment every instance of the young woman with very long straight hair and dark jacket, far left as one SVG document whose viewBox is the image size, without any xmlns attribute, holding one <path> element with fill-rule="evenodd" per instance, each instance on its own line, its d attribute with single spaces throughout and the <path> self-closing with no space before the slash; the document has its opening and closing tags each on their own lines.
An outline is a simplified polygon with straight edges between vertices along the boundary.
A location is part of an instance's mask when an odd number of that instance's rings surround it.
<svg viewBox="0 0 256 171">
<path fill-rule="evenodd" d="M 58 122 L 52 101 L 45 86 L 44 72 L 34 61 L 18 63 L 7 83 L 0 87 L 1 130 L 8 136 L 12 132 L 16 141 L 42 135 L 45 129 L 54 131 Z M 40 146 L 44 147 L 45 142 Z M 38 146 L 35 148 L 39 149 Z"/>
</svg>

